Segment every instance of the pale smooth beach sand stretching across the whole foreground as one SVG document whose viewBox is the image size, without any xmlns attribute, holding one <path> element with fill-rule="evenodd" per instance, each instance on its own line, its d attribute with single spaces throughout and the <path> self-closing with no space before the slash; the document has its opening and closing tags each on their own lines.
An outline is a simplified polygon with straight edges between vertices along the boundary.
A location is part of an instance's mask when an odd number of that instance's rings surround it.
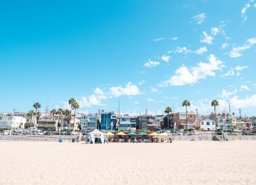
<svg viewBox="0 0 256 185">
<path fill-rule="evenodd" d="M 255 141 L 0 141 L 0 184 L 256 184 Z"/>
</svg>

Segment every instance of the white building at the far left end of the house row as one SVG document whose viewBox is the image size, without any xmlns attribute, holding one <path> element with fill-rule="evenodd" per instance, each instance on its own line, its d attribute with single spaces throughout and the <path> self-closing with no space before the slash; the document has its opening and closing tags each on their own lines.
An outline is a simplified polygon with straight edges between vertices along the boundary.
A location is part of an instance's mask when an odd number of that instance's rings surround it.
<svg viewBox="0 0 256 185">
<path fill-rule="evenodd" d="M 14 130 L 18 128 L 24 128 L 26 123 L 26 118 L 22 116 L 13 116 L 13 115 L 0 115 L 0 129 Z"/>
</svg>

